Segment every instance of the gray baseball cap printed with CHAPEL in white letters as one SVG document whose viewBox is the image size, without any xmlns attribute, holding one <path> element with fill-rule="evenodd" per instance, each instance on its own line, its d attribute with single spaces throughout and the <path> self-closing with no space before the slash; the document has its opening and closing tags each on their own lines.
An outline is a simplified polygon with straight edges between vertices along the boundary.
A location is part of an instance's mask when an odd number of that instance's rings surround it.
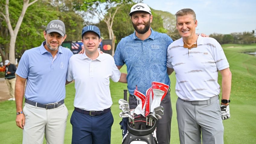
<svg viewBox="0 0 256 144">
<path fill-rule="evenodd" d="M 47 24 L 47 27 L 45 30 L 47 31 L 47 34 L 51 32 L 57 32 L 60 35 L 62 35 L 62 37 L 64 37 L 64 35 L 66 34 L 65 24 L 61 20 L 50 21 L 49 24 Z"/>
</svg>

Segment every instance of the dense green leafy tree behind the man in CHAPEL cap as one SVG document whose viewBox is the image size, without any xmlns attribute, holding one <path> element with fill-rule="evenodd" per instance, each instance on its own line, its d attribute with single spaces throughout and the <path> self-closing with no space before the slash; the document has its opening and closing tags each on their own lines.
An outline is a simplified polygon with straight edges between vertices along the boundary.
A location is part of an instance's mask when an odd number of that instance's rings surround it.
<svg viewBox="0 0 256 144">
<path fill-rule="evenodd" d="M 1 2 L 1 1 L 0 1 Z M 56 1 L 55 1 L 56 2 Z M 53 3 L 53 0 L 38 1 L 27 8 L 23 22 L 19 29 L 17 40 L 15 43 L 15 57 L 20 58 L 25 50 L 39 46 L 44 40 L 43 30 L 49 21 L 60 19 L 66 25 L 65 41 L 81 40 L 81 30 L 84 20 L 75 13 L 72 6 L 68 3 L 70 0 L 62 0 L 62 2 Z M 15 25 L 22 9 L 20 0 L 12 0 L 9 3 L 9 12 L 11 24 Z M 70 8 L 71 7 L 71 8 Z M 0 18 L 0 50 L 3 61 L 8 59 L 10 36 L 6 22 Z M 7 56 L 6 56 L 7 55 Z M 6 57 L 5 57 L 6 56 Z"/>
</svg>

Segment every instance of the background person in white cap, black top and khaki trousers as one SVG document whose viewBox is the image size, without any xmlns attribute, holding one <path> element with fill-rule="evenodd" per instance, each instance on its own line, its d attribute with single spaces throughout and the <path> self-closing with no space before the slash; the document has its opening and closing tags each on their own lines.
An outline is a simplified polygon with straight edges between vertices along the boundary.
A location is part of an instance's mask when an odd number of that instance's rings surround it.
<svg viewBox="0 0 256 144">
<path fill-rule="evenodd" d="M 5 60 L 5 80 L 11 96 L 11 98 L 9 98 L 8 101 L 15 101 L 15 98 L 14 98 L 15 82 L 16 82 L 15 72 L 16 72 L 16 66 L 14 64 L 11 64 L 8 59 Z"/>
</svg>

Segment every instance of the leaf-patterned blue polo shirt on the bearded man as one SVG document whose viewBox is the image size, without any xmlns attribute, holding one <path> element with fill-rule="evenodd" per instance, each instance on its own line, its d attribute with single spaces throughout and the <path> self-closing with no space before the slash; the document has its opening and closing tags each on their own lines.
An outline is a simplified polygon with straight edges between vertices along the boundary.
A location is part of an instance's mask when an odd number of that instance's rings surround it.
<svg viewBox="0 0 256 144">
<path fill-rule="evenodd" d="M 151 29 L 146 40 L 140 40 L 133 34 L 122 38 L 115 51 L 114 60 L 117 66 L 127 66 L 127 87 L 133 94 L 136 85 L 138 91 L 146 95 L 153 81 L 170 85 L 167 74 L 167 48 L 173 40 L 167 35 Z"/>
</svg>

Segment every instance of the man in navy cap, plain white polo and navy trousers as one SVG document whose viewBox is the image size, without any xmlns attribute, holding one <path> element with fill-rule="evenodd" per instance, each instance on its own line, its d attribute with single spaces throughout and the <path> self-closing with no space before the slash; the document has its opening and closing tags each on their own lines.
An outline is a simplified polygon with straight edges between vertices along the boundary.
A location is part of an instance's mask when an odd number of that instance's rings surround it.
<svg viewBox="0 0 256 144">
<path fill-rule="evenodd" d="M 110 144 L 114 122 L 110 107 L 109 78 L 126 83 L 126 74 L 120 73 L 114 58 L 100 53 L 101 33 L 89 25 L 82 29 L 85 53 L 73 55 L 69 60 L 67 81 L 75 80 L 75 110 L 70 118 L 72 144 Z"/>
</svg>

